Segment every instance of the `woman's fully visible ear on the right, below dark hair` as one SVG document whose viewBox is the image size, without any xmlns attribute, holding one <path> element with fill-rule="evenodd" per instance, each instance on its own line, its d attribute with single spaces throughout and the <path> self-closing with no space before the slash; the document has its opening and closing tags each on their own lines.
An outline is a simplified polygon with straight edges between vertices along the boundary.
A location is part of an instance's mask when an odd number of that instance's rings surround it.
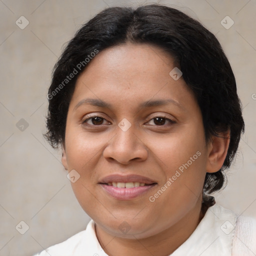
<svg viewBox="0 0 256 256">
<path fill-rule="evenodd" d="M 218 133 L 219 136 L 212 136 L 208 142 L 208 159 L 206 172 L 218 171 L 225 160 L 230 141 L 230 130 Z"/>
</svg>

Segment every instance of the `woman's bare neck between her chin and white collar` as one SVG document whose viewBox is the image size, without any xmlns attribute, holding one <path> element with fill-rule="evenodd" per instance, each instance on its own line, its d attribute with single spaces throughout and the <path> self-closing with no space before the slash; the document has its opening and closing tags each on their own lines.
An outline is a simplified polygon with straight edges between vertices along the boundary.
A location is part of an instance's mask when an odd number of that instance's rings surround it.
<svg viewBox="0 0 256 256">
<path fill-rule="evenodd" d="M 198 201 L 182 219 L 153 236 L 126 239 L 113 236 L 95 224 L 97 239 L 109 256 L 165 256 L 177 249 L 195 230 L 205 214 L 205 208 Z"/>
</svg>

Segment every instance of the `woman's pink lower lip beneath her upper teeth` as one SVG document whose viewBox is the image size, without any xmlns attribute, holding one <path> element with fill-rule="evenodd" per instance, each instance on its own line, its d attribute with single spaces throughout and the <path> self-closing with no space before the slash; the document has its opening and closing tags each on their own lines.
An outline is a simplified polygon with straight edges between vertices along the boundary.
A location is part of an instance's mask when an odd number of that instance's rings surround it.
<svg viewBox="0 0 256 256">
<path fill-rule="evenodd" d="M 131 188 L 115 187 L 115 186 L 102 184 L 102 183 L 100 185 L 108 194 L 113 196 L 115 199 L 130 200 L 135 198 L 138 195 L 145 193 L 150 188 L 152 188 L 155 184 L 156 183 L 153 183 L 150 185 L 138 186 L 138 187 L 131 187 Z"/>
</svg>

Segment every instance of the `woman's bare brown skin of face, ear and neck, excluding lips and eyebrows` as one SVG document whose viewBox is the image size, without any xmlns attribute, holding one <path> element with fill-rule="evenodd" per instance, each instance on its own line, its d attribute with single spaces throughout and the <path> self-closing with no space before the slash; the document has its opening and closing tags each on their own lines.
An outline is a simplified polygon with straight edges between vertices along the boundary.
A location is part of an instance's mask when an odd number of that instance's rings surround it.
<svg viewBox="0 0 256 256">
<path fill-rule="evenodd" d="M 80 178 L 71 183 L 84 211 L 94 220 L 104 251 L 119 255 L 169 255 L 198 225 L 206 172 L 223 164 L 229 139 L 206 142 L 202 116 L 182 77 L 174 80 L 171 56 L 149 44 L 126 43 L 99 52 L 77 79 L 70 101 L 62 163 Z M 78 102 L 101 99 L 111 107 Z M 141 102 L 178 103 L 139 107 Z M 99 122 L 87 119 L 100 116 Z M 156 117 L 162 119 L 157 122 Z M 123 131 L 118 123 L 131 126 Z M 83 123 L 83 121 L 85 121 Z M 96 123 L 96 124 L 95 124 Z M 148 198 L 196 152 L 200 156 L 153 202 Z M 157 184 L 131 200 L 117 200 L 98 184 L 112 173 L 139 174 Z M 129 230 L 119 225 L 126 221 Z"/>
</svg>

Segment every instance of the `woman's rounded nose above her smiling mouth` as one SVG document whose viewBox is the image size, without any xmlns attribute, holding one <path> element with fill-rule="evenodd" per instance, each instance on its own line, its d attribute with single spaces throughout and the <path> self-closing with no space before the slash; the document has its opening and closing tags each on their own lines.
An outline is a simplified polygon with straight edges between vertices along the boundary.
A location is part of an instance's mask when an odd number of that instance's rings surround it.
<svg viewBox="0 0 256 256">
<path fill-rule="evenodd" d="M 123 131 L 117 127 L 116 134 L 110 139 L 103 151 L 107 160 L 115 160 L 127 165 L 131 161 L 144 161 L 147 158 L 148 150 L 139 135 L 134 133 L 130 127 Z"/>
</svg>

